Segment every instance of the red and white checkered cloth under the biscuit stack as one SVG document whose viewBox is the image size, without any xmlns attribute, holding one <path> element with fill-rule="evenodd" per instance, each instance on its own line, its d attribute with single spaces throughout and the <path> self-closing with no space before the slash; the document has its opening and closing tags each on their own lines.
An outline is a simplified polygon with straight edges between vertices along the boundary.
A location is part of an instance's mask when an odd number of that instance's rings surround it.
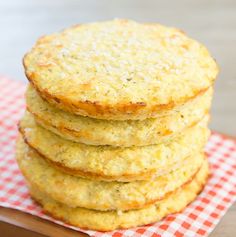
<svg viewBox="0 0 236 237">
<path fill-rule="evenodd" d="M 14 208 L 95 237 L 207 236 L 236 200 L 236 142 L 212 133 L 206 151 L 211 177 L 201 195 L 182 213 L 143 227 L 113 232 L 81 230 L 45 215 L 31 200 L 15 161 L 17 122 L 22 116 L 25 84 L 0 77 L 0 206 Z"/>
</svg>

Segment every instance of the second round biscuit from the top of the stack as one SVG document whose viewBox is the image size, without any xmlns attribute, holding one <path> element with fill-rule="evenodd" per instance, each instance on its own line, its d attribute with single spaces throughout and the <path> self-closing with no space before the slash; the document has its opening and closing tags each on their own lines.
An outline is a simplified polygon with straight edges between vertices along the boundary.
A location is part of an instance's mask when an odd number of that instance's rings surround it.
<svg viewBox="0 0 236 237">
<path fill-rule="evenodd" d="M 30 86 L 27 109 L 46 129 L 74 142 L 88 145 L 144 146 L 165 142 L 199 122 L 208 112 L 212 88 L 175 112 L 141 121 L 101 120 L 73 115 L 43 100 Z"/>
</svg>

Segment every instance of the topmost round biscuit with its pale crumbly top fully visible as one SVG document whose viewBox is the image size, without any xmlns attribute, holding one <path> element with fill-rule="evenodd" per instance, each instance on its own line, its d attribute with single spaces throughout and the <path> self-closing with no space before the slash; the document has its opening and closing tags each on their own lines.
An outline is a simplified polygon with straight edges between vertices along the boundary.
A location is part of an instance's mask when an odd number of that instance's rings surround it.
<svg viewBox="0 0 236 237">
<path fill-rule="evenodd" d="M 23 61 L 50 103 L 108 120 L 156 117 L 206 91 L 218 73 L 207 49 L 182 31 L 131 20 L 43 36 Z"/>
</svg>

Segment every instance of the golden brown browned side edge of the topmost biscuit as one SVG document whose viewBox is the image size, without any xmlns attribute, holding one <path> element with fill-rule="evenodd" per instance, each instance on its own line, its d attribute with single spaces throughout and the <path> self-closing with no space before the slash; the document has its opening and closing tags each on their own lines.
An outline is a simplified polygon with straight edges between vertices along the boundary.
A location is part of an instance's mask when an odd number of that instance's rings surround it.
<svg viewBox="0 0 236 237">
<path fill-rule="evenodd" d="M 187 102 L 194 100 L 196 97 L 201 96 L 207 90 L 209 90 L 210 87 L 212 87 L 212 85 L 210 85 L 206 88 L 196 91 L 194 95 L 191 95 L 189 97 L 182 97 L 180 100 L 171 101 L 168 104 L 157 104 L 153 106 L 148 106 L 144 102 L 129 102 L 128 104 L 116 104 L 116 106 L 114 107 L 114 105 L 112 104 L 100 104 L 97 101 L 89 100 L 76 101 L 72 103 L 66 97 L 55 96 L 53 94 L 50 94 L 46 89 L 39 89 L 39 87 L 37 87 L 37 85 L 34 83 L 33 76 L 29 76 L 27 74 L 26 76 L 33 85 L 33 87 L 40 94 L 40 96 L 52 105 L 56 106 L 57 108 L 73 114 L 107 120 L 111 118 L 114 120 L 138 120 L 145 118 L 155 118 L 158 117 L 158 114 L 168 113 L 168 111 L 176 109 L 178 106 L 181 106 Z M 143 113 L 146 114 L 145 117 L 143 117 Z M 121 115 L 119 116 L 117 114 Z"/>
</svg>

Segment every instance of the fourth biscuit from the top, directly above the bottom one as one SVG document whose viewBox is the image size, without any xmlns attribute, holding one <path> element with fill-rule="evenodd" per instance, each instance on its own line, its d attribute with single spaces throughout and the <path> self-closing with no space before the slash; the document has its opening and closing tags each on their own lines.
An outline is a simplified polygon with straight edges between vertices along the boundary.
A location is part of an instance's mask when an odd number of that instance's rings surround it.
<svg viewBox="0 0 236 237">
<path fill-rule="evenodd" d="M 70 207 L 103 211 L 138 209 L 163 199 L 169 192 L 193 179 L 203 160 L 204 155 L 198 153 L 189 157 L 188 162 L 179 169 L 149 181 L 103 182 L 58 171 L 24 144 L 22 139 L 17 147 L 19 167 L 29 183 Z"/>
</svg>

